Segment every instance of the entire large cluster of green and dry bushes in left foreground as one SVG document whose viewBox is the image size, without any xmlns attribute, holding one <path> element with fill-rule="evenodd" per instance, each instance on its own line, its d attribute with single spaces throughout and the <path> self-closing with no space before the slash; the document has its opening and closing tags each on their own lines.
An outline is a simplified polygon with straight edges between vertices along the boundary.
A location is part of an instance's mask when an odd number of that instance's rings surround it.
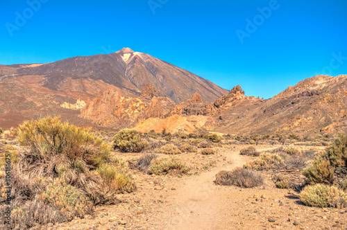
<svg viewBox="0 0 347 230">
<path fill-rule="evenodd" d="M 112 157 L 109 145 L 95 136 L 92 130 L 62 123 L 58 117 L 19 125 L 22 148 L 12 161 L 10 227 L 83 218 L 92 206 L 115 203 L 117 193 L 135 189 L 126 163 Z M 7 198 L 1 195 L 0 209 Z M 33 211 L 37 208 L 40 212 Z"/>
</svg>

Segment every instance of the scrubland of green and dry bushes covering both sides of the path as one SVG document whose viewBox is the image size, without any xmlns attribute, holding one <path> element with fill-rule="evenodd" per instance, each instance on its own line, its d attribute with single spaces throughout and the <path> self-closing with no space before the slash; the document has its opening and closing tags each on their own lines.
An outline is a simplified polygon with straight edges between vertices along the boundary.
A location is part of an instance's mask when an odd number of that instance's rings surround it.
<svg viewBox="0 0 347 230">
<path fill-rule="evenodd" d="M 0 135 L 0 209 L 4 211 L 6 200 L 12 200 L 11 226 L 17 229 L 88 221 L 99 206 L 118 204 L 120 194 L 144 189 L 143 184 L 153 183 L 158 192 L 163 182 L 180 184 L 216 166 L 232 165 L 230 152 L 248 161 L 243 161 L 243 167 L 217 173 L 214 184 L 223 189 L 254 193 L 271 184 L 276 190 L 294 189 L 300 193 L 297 199 L 307 206 L 347 206 L 346 134 L 333 139 L 323 135 L 169 134 L 166 130 L 110 133 L 46 117 Z M 331 143 L 330 147 L 324 150 L 322 141 Z M 10 195 L 5 191 L 4 154 L 12 161 Z M 141 186 L 135 183 L 139 178 Z M 158 202 L 162 204 L 162 197 Z"/>
</svg>

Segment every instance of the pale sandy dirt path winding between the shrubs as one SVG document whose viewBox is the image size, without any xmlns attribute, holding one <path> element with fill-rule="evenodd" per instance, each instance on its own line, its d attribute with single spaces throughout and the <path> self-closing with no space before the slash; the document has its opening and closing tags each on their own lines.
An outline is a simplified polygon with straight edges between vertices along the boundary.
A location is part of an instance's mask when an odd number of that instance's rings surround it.
<svg viewBox="0 0 347 230">
<path fill-rule="evenodd" d="M 164 229 L 224 229 L 228 196 L 213 183 L 220 170 L 232 170 L 248 159 L 238 152 L 224 154 L 232 164 L 189 177 L 172 197 L 174 212 Z"/>
</svg>

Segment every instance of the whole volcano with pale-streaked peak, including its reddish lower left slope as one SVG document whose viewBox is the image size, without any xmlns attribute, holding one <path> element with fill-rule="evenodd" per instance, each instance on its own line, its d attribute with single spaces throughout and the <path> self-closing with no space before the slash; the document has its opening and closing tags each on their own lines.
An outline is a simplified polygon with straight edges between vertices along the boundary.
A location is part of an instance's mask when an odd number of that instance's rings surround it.
<svg viewBox="0 0 347 230">
<path fill-rule="evenodd" d="M 123 99 L 135 98 L 141 96 L 145 85 L 155 87 L 167 103 L 182 103 L 194 93 L 200 94 L 205 103 L 212 103 L 227 93 L 193 73 L 130 48 L 48 64 L 0 65 L 0 127 L 15 126 L 46 114 L 60 115 L 72 123 L 90 124 L 79 117 L 81 105 L 87 100 L 107 94 L 104 91 Z M 155 100 L 153 107 L 158 105 Z M 102 111 L 105 112 L 102 116 L 109 116 L 107 109 Z M 151 116 L 160 114 L 144 117 Z"/>
</svg>

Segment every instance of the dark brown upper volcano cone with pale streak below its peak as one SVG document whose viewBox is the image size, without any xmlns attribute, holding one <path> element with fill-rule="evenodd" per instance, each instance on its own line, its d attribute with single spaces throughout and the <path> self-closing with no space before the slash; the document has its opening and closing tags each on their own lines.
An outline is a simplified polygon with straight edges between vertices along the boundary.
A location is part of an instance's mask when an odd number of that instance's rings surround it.
<svg viewBox="0 0 347 230">
<path fill-rule="evenodd" d="M 71 57 L 49 64 L 14 65 L 1 69 L 5 73 L 15 72 L 15 76 L 44 76 L 44 87 L 53 90 L 58 90 L 66 77 L 101 80 L 137 96 L 142 87 L 150 84 L 158 94 L 175 103 L 189 99 L 194 92 L 205 102 L 212 103 L 227 92 L 193 73 L 130 48 L 108 55 Z"/>
</svg>

